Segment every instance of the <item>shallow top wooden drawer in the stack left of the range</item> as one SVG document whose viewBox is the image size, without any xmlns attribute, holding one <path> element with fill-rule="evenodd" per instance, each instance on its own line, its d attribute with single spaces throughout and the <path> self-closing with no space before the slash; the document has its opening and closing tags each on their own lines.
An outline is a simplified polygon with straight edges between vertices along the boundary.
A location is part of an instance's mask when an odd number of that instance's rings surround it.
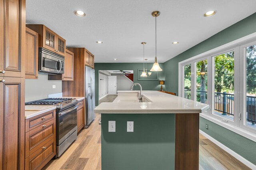
<svg viewBox="0 0 256 170">
<path fill-rule="evenodd" d="M 30 119 L 26 119 L 26 132 L 43 125 L 47 121 L 55 119 L 55 117 L 56 117 L 56 112 L 55 110 L 52 110 L 46 113 L 42 113 L 38 116 L 32 117 Z"/>
</svg>

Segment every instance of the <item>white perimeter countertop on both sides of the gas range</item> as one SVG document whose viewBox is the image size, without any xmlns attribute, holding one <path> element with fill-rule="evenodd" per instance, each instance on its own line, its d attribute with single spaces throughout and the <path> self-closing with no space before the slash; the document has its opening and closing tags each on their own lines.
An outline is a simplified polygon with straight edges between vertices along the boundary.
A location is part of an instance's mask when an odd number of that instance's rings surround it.
<svg viewBox="0 0 256 170">
<path fill-rule="evenodd" d="M 76 100 L 78 100 L 78 102 L 82 101 L 84 99 L 84 97 L 62 97 L 62 98 L 75 98 Z M 35 109 L 31 109 L 31 107 L 35 107 Z M 47 109 L 44 109 L 44 107 L 47 107 Z M 25 119 L 29 119 L 31 117 L 40 115 L 42 113 L 46 113 L 46 112 L 54 110 L 54 109 L 56 109 L 56 106 L 53 106 L 53 105 L 26 105 L 25 106 Z M 31 110 L 33 110 L 33 111 L 31 111 Z"/>
</svg>

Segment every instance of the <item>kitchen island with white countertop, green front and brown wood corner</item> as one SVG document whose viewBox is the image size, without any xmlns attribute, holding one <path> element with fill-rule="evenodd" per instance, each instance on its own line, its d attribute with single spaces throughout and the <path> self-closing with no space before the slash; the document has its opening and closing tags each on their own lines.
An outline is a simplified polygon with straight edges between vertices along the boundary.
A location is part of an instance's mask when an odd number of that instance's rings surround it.
<svg viewBox="0 0 256 170">
<path fill-rule="evenodd" d="M 159 91 L 118 91 L 102 113 L 102 170 L 198 169 L 199 113 L 209 106 Z M 109 132 L 108 121 L 116 121 Z M 127 121 L 134 132 L 127 132 Z"/>
</svg>

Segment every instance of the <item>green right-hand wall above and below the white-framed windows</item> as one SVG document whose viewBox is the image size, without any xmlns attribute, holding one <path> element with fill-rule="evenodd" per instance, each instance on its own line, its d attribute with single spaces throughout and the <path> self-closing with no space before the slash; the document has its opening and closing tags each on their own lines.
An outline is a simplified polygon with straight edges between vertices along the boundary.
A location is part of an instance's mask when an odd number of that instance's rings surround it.
<svg viewBox="0 0 256 170">
<path fill-rule="evenodd" d="M 256 13 L 166 61 L 163 67 L 163 79 L 165 80 L 166 90 L 178 94 L 178 62 L 254 32 L 256 32 Z M 209 130 L 205 128 L 206 123 L 209 124 Z M 256 142 L 203 118 L 200 118 L 200 129 L 256 164 Z"/>
</svg>

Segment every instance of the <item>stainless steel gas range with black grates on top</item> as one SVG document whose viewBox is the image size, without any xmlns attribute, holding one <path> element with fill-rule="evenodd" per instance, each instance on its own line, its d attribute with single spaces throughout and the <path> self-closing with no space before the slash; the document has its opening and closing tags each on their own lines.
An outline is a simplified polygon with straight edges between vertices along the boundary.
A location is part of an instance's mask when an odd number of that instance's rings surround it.
<svg viewBox="0 0 256 170">
<path fill-rule="evenodd" d="M 77 103 L 74 98 L 48 98 L 25 103 L 25 105 L 56 106 L 56 157 L 59 157 L 77 138 Z"/>
</svg>

